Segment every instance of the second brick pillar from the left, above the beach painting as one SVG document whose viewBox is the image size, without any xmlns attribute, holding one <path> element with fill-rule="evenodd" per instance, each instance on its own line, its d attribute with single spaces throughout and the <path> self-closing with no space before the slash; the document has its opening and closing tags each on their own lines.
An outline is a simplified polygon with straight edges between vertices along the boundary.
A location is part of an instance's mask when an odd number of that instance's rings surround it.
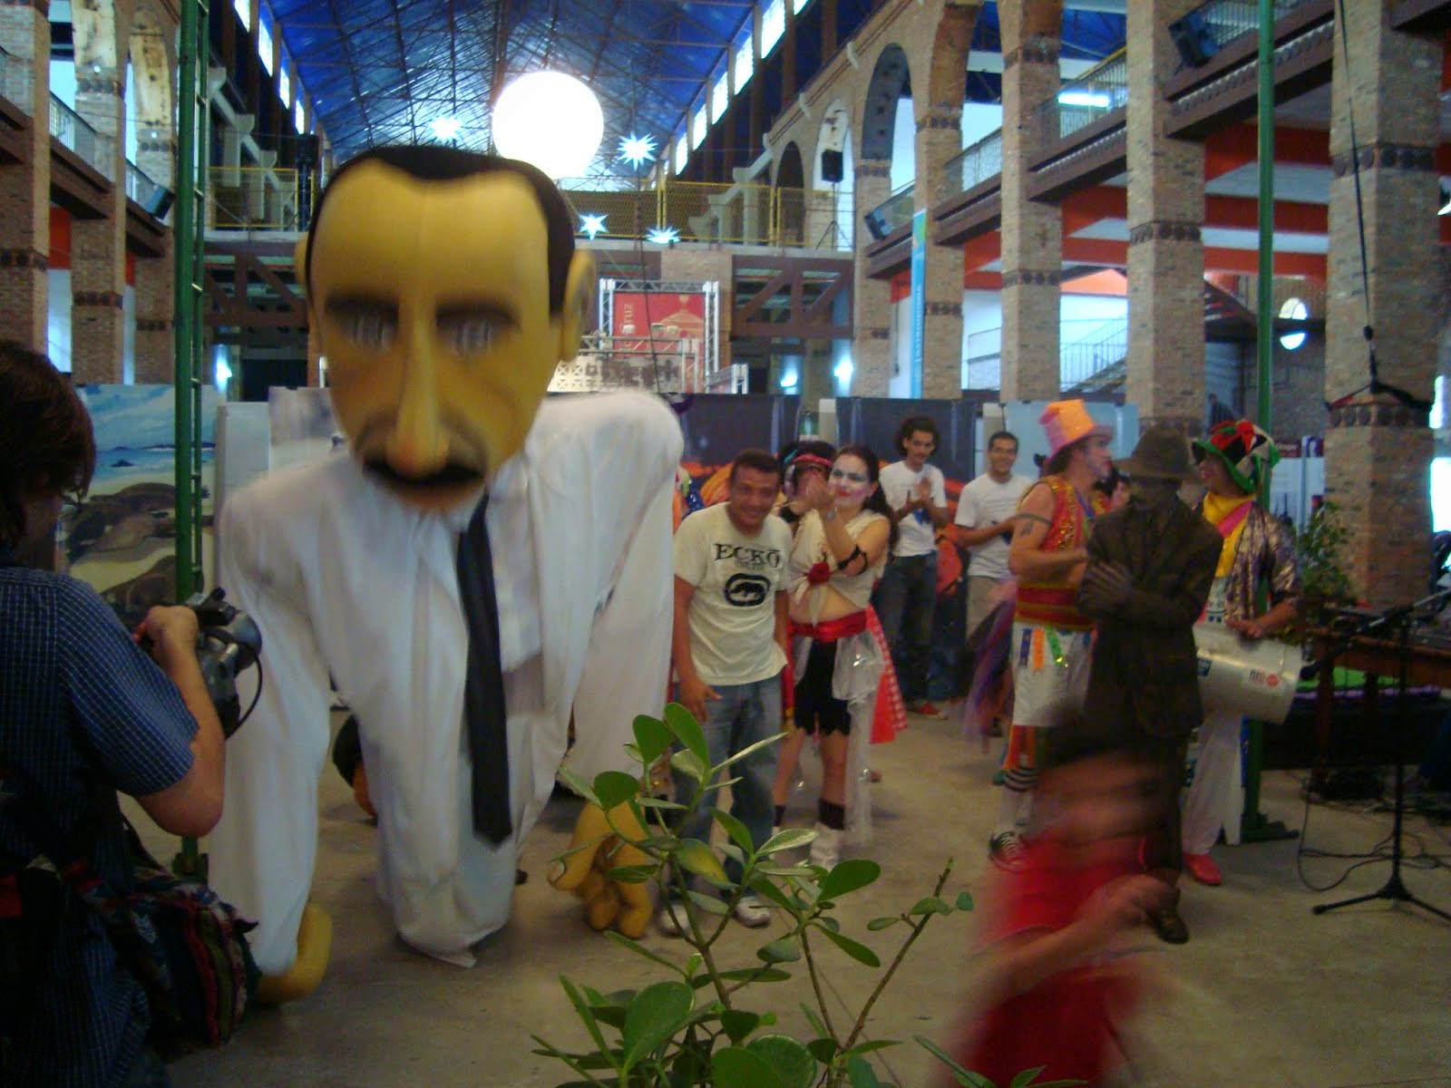
<svg viewBox="0 0 1451 1088">
<path fill-rule="evenodd" d="M 100 219 L 71 222 L 71 373 L 77 382 L 120 382 L 126 290 L 126 116 L 116 73 L 75 81 L 75 112 L 112 141 L 112 199 Z"/>
</svg>

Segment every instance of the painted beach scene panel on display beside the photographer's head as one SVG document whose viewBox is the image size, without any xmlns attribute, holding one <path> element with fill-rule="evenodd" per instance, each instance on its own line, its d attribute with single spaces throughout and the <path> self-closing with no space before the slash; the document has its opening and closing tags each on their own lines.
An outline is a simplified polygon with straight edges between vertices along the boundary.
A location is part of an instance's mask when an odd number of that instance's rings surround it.
<svg viewBox="0 0 1451 1088">
<path fill-rule="evenodd" d="M 90 492 L 61 525 L 61 557 L 135 627 L 176 601 L 176 399 L 171 386 L 77 386 L 96 432 Z M 202 390 L 202 569 L 213 570 L 216 390 Z"/>
</svg>

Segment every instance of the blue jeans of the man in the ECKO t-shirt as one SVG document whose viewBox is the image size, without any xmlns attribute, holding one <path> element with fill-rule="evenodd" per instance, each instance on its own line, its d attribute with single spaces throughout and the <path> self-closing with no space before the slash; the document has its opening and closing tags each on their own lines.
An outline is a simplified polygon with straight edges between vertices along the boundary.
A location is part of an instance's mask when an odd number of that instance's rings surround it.
<svg viewBox="0 0 1451 1088">
<path fill-rule="evenodd" d="M 723 763 L 741 749 L 759 740 L 781 733 L 781 675 L 776 673 L 755 683 L 712 683 L 721 698 L 705 704 L 705 747 L 710 750 L 711 766 Z M 740 763 L 726 769 L 727 778 L 739 778 L 731 788 L 731 815 L 750 831 L 750 841 L 763 846 L 770 838 L 775 805 L 770 788 L 776 780 L 776 763 L 781 746 L 762 749 Z M 675 796 L 682 804 L 695 794 L 695 780 L 675 773 Z M 718 807 L 717 794 L 707 794 L 699 808 L 682 814 L 678 834 L 681 838 L 710 841 L 711 808 Z M 741 867 L 734 859 L 726 859 L 726 875 L 740 883 Z"/>
</svg>

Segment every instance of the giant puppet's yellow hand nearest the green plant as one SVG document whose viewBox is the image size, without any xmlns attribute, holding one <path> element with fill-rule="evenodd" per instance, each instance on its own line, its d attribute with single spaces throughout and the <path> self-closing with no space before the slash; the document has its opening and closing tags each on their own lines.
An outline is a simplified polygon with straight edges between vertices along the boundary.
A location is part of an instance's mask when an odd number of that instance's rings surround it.
<svg viewBox="0 0 1451 1088">
<path fill-rule="evenodd" d="M 627 836 L 644 838 L 628 805 L 615 807 L 609 815 Z M 563 870 L 550 876 L 550 883 L 585 901 L 585 917 L 592 928 L 607 930 L 614 924 L 627 937 L 643 937 L 650 923 L 649 888 L 607 881 L 605 873 L 617 866 L 649 865 L 649 856 L 615 834 L 598 805 L 585 805 L 569 846 L 572 853 Z"/>
</svg>

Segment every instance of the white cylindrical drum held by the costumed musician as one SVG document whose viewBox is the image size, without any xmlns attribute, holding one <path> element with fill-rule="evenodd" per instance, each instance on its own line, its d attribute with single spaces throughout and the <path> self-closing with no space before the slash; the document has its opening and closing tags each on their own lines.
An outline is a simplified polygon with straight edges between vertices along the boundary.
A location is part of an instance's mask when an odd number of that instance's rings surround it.
<svg viewBox="0 0 1451 1088">
<path fill-rule="evenodd" d="M 1194 624 L 1204 711 L 1239 711 L 1275 725 L 1290 715 L 1300 683 L 1300 647 L 1241 638 L 1223 624 Z"/>
</svg>

